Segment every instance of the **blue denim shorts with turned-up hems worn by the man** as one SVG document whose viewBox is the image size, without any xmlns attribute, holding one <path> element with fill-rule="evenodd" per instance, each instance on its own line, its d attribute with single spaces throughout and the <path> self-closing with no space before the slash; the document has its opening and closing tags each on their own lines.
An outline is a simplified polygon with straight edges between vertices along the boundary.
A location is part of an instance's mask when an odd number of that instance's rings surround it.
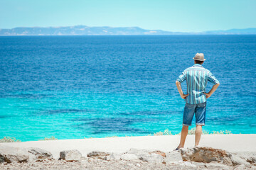
<svg viewBox="0 0 256 170">
<path fill-rule="evenodd" d="M 186 103 L 183 113 L 183 125 L 191 125 L 194 113 L 196 115 L 196 125 L 205 125 L 206 102 L 198 104 Z"/>
</svg>

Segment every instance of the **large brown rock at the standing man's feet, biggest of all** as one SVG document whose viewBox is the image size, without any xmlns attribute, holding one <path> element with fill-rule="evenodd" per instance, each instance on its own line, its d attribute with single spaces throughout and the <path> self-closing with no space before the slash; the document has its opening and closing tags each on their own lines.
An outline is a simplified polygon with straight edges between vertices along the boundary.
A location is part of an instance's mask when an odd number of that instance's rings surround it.
<svg viewBox="0 0 256 170">
<path fill-rule="evenodd" d="M 222 149 L 214 149 L 211 147 L 193 147 L 188 149 L 179 149 L 183 161 L 193 162 L 218 162 L 226 165 L 233 165 L 232 155 Z"/>
</svg>

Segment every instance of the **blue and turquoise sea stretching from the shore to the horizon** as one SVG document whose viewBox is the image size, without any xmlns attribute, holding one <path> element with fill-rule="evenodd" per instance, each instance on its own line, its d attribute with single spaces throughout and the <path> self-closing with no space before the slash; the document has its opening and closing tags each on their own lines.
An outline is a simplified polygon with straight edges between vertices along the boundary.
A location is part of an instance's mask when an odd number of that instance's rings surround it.
<svg viewBox="0 0 256 170">
<path fill-rule="evenodd" d="M 256 35 L 1 36 L 0 138 L 177 134 L 196 52 L 220 81 L 203 130 L 256 133 Z"/>
</svg>

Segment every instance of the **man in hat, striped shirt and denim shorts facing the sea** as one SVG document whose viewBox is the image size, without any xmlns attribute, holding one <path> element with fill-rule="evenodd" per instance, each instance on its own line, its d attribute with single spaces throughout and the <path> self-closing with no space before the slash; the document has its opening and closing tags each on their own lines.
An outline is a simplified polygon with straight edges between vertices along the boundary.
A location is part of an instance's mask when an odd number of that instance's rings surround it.
<svg viewBox="0 0 256 170">
<path fill-rule="evenodd" d="M 181 141 L 175 150 L 184 147 L 186 136 L 188 135 L 188 126 L 191 125 L 193 115 L 196 115 L 196 139 L 195 146 L 198 146 L 202 126 L 206 121 L 206 98 L 209 98 L 220 85 L 220 82 L 211 74 L 208 69 L 203 68 L 202 64 L 206 60 L 203 53 L 197 53 L 193 57 L 194 65 L 185 69 L 176 80 L 176 86 L 181 98 L 186 100 L 183 112 L 183 127 L 181 130 Z M 183 94 L 181 83 L 186 80 L 187 94 Z M 210 81 L 213 88 L 206 93 L 206 84 Z"/>
</svg>

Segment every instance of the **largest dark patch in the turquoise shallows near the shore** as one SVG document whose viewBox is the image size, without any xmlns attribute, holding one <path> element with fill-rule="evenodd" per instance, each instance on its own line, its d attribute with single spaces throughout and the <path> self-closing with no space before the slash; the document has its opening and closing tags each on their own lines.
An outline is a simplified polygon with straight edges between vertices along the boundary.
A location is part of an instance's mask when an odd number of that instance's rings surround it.
<svg viewBox="0 0 256 170">
<path fill-rule="evenodd" d="M 74 125 L 81 130 L 87 130 L 87 125 L 92 128 L 92 134 L 109 133 L 109 132 L 131 132 L 149 134 L 150 131 L 139 128 L 130 128 L 129 125 L 136 122 L 154 121 L 154 118 L 77 118 L 74 121 L 83 121 Z"/>
</svg>

